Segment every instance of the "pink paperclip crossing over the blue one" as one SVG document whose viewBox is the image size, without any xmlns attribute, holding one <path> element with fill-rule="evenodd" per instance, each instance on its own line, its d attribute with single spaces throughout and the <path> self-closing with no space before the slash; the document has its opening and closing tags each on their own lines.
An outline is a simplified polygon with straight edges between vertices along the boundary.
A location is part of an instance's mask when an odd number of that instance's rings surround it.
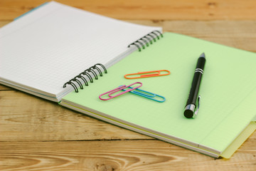
<svg viewBox="0 0 256 171">
<path fill-rule="evenodd" d="M 124 90 L 124 91 L 122 91 L 121 93 L 118 93 L 117 95 L 113 95 L 113 96 L 112 96 L 113 93 L 116 93 L 116 92 L 118 92 L 119 90 L 123 90 L 124 88 L 128 88 L 128 87 L 130 87 L 130 86 L 133 86 L 134 84 L 137 84 L 137 83 L 139 84 L 139 86 L 137 86 L 137 87 L 135 87 L 135 88 L 129 88 L 128 90 Z M 140 83 L 140 82 L 135 82 L 135 83 L 130 84 L 129 86 L 121 86 L 121 87 L 118 87 L 118 88 L 114 88 L 114 90 L 110 90 L 110 91 L 108 91 L 108 92 L 106 92 L 106 93 L 101 94 L 101 95 L 99 96 L 99 98 L 100 98 L 100 100 L 110 100 L 110 99 L 115 98 L 115 97 L 117 97 L 117 96 L 119 96 L 119 95 L 122 95 L 122 94 L 124 94 L 124 93 L 128 93 L 129 91 L 134 90 L 134 89 L 136 89 L 136 88 L 139 88 L 139 87 L 141 87 L 141 86 L 142 86 L 142 83 Z M 106 95 L 106 94 L 109 94 L 110 98 L 101 98 L 102 95 Z"/>
</svg>

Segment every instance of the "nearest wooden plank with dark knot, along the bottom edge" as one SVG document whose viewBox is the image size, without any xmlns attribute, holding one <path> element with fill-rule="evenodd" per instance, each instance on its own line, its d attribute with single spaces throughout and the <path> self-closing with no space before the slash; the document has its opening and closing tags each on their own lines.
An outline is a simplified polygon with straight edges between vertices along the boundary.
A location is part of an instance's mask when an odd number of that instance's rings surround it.
<svg viewBox="0 0 256 171">
<path fill-rule="evenodd" d="M 254 141 L 249 140 L 251 143 Z M 250 138 L 252 139 L 252 138 Z M 159 140 L 0 142 L 0 170 L 256 170 L 245 142 L 230 160 Z"/>
</svg>

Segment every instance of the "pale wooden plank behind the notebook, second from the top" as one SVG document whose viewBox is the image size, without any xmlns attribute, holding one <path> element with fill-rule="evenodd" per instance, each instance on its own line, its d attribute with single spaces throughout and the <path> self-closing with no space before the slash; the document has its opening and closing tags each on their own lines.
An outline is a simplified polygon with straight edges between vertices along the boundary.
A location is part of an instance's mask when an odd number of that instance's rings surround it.
<svg viewBox="0 0 256 171">
<path fill-rule="evenodd" d="M 164 31 L 181 33 L 245 51 L 256 52 L 256 21 L 125 21 L 146 26 L 161 26 Z M 4 26 L 8 22 L 0 21 L 0 26 Z"/>
</svg>

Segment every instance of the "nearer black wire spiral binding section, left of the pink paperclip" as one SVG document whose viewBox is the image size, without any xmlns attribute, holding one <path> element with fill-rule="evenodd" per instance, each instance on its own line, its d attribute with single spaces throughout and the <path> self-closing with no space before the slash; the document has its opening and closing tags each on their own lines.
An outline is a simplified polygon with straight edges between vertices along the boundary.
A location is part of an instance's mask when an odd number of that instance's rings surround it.
<svg viewBox="0 0 256 171">
<path fill-rule="evenodd" d="M 98 79 L 98 76 L 97 76 L 97 73 L 95 72 L 95 70 L 100 74 L 100 76 L 103 76 L 102 69 L 99 68 L 98 66 L 101 66 L 101 68 L 104 70 L 104 72 L 107 73 L 107 69 L 105 68 L 105 66 L 103 66 L 101 63 L 97 63 L 97 64 L 95 64 L 95 66 L 87 68 L 85 71 L 80 73 L 78 76 L 75 76 L 74 78 L 70 79 L 70 81 L 68 81 L 67 83 L 65 83 L 63 85 L 63 88 L 65 88 L 67 86 L 67 84 L 70 84 L 71 86 L 73 86 L 73 88 L 75 90 L 75 93 L 78 93 L 78 87 L 75 85 L 75 83 L 78 83 L 78 86 L 80 87 L 80 89 L 83 89 L 81 80 L 85 83 L 85 86 L 89 85 L 88 81 L 85 78 L 85 76 L 87 78 L 89 78 L 90 83 L 93 83 L 93 78 L 90 75 L 90 73 L 92 73 L 92 75 L 94 76 L 95 80 Z M 80 80 L 78 78 L 80 78 Z"/>
</svg>

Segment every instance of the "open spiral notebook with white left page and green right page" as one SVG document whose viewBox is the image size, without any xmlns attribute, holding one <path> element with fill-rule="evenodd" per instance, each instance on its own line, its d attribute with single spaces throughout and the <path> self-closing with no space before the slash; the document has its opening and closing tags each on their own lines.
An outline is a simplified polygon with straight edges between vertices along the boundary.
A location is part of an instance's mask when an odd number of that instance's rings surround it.
<svg viewBox="0 0 256 171">
<path fill-rule="evenodd" d="M 158 40 L 159 32 L 151 33 L 155 30 L 161 28 L 127 24 L 50 2 L 1 28 L 0 81 L 49 100 L 61 100 L 65 107 L 123 128 L 212 157 L 230 157 L 255 130 L 255 53 L 175 33 L 164 33 Z M 154 38 L 156 42 L 150 44 Z M 207 62 L 201 107 L 196 119 L 187 119 L 183 109 L 196 60 L 203 52 Z M 72 81 L 73 85 L 63 88 L 95 63 L 106 66 L 107 73 L 99 66 L 103 76 L 89 86 L 80 89 Z M 124 78 L 127 73 L 162 69 L 171 75 Z M 98 98 L 135 81 L 142 82 L 142 90 L 163 95 L 166 101 L 157 103 L 131 93 L 108 101 Z"/>
</svg>

